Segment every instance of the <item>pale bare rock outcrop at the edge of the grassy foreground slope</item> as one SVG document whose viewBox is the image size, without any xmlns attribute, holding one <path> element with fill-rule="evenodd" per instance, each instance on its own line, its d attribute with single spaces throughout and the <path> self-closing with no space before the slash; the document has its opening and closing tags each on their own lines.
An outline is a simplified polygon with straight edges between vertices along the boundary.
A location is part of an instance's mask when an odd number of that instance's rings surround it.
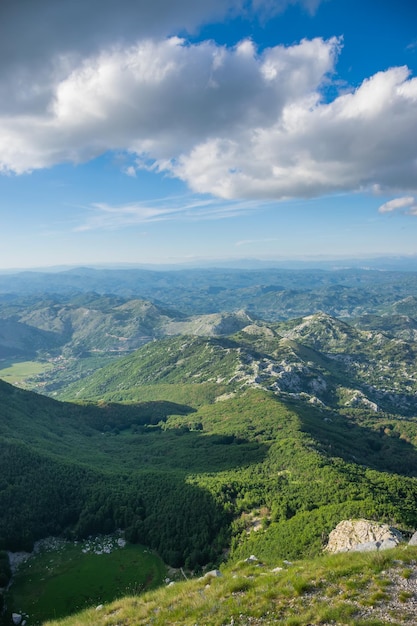
<svg viewBox="0 0 417 626">
<path fill-rule="evenodd" d="M 388 524 L 365 519 L 344 520 L 329 535 L 328 552 L 386 550 L 403 540 L 401 533 Z"/>
</svg>

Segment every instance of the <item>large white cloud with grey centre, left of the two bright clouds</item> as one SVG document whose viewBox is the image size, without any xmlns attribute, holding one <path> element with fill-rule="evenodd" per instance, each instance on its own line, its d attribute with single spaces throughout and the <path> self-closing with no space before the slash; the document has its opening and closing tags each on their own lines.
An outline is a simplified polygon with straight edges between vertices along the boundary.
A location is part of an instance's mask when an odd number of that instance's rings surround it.
<svg viewBox="0 0 417 626">
<path fill-rule="evenodd" d="M 22 173 L 118 149 L 186 180 L 193 150 L 246 141 L 248 130 L 271 128 L 286 107 L 311 99 L 338 46 L 316 39 L 258 56 L 250 41 L 227 49 L 172 37 L 113 48 L 60 81 L 42 113 L 0 117 L 1 166 Z"/>
</svg>

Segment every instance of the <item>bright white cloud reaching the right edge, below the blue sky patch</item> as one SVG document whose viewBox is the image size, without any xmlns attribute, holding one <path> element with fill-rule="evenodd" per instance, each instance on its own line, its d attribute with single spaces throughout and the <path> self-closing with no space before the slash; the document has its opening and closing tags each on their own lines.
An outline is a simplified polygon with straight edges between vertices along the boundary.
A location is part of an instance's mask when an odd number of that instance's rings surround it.
<svg viewBox="0 0 417 626">
<path fill-rule="evenodd" d="M 195 191 L 225 198 L 415 189 L 416 104 L 417 80 L 393 68 L 328 104 L 306 92 L 272 124 L 243 130 L 239 141 L 209 138 L 173 168 Z"/>
</svg>

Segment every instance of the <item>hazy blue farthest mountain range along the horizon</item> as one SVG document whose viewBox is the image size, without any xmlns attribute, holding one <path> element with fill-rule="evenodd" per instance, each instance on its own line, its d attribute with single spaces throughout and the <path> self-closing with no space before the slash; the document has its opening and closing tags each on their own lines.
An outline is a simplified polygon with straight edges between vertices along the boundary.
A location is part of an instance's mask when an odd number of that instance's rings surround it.
<svg viewBox="0 0 417 626">
<path fill-rule="evenodd" d="M 325 311 L 336 317 L 381 313 L 416 292 L 416 272 L 361 269 L 72 269 L 0 275 L 0 294 L 96 292 L 143 299 L 186 315 L 246 310 L 267 320 Z"/>
</svg>

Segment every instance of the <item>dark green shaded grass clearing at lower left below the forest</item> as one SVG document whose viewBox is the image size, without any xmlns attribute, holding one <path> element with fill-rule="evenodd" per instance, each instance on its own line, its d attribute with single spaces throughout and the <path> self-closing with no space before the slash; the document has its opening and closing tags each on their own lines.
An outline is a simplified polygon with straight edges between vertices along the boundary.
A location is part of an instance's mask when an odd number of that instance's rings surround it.
<svg viewBox="0 0 417 626">
<path fill-rule="evenodd" d="M 86 552 L 91 545 L 63 543 L 21 565 L 7 599 L 11 612 L 29 615 L 33 626 L 153 589 L 166 576 L 161 559 L 142 546 L 114 545 L 111 553 L 98 554 Z"/>
</svg>

